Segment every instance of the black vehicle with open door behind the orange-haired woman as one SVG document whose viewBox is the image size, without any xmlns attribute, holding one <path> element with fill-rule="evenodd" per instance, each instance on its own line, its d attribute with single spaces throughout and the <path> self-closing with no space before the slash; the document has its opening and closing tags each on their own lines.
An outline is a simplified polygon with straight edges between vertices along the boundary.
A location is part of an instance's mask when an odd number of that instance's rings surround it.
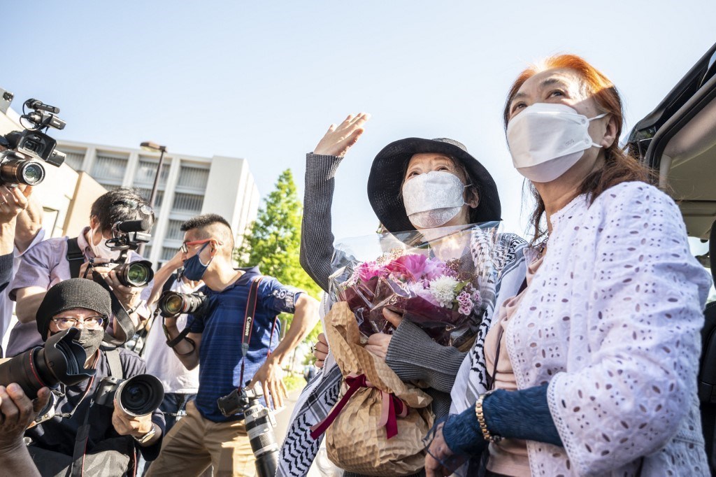
<svg viewBox="0 0 716 477">
<path fill-rule="evenodd" d="M 690 237 L 709 242 L 697 257 L 716 282 L 716 44 L 656 109 L 637 123 L 627 146 L 679 204 Z M 716 302 L 707 304 L 698 391 L 706 453 L 716 475 Z"/>
</svg>

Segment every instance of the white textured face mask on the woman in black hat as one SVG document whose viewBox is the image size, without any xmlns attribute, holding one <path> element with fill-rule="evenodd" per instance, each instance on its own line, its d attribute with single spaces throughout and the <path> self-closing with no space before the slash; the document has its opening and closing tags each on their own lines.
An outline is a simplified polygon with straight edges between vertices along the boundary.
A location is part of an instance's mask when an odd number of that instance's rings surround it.
<svg viewBox="0 0 716 477">
<path fill-rule="evenodd" d="M 402 195 L 410 223 L 419 228 L 448 223 L 465 205 L 465 187 L 457 175 L 442 170 L 432 170 L 407 180 L 402 186 Z"/>
</svg>

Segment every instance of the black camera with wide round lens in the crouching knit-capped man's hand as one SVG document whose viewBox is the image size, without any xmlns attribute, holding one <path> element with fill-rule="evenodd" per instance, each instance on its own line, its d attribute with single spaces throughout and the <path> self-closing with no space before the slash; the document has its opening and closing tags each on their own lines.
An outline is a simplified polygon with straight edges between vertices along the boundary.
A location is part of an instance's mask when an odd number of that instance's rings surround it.
<svg viewBox="0 0 716 477">
<path fill-rule="evenodd" d="M 138 417 L 153 413 L 164 399 L 162 382 L 153 375 L 136 375 L 123 380 L 107 376 L 102 378 L 95 391 L 95 403 L 113 407 Z"/>
</svg>

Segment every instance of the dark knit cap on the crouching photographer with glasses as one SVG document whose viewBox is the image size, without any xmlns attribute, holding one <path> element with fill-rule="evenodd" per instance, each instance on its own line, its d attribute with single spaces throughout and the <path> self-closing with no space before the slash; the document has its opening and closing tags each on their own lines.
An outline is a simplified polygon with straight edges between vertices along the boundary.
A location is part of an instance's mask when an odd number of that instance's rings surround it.
<svg viewBox="0 0 716 477">
<path fill-rule="evenodd" d="M 88 279 L 69 279 L 52 286 L 47 290 L 35 314 L 37 331 L 42 335 L 42 339 L 47 338 L 52 317 L 73 308 L 91 309 L 109 318 L 112 314 L 110 292 L 102 288 L 102 285 Z M 105 327 L 107 321 L 105 320 Z"/>
</svg>

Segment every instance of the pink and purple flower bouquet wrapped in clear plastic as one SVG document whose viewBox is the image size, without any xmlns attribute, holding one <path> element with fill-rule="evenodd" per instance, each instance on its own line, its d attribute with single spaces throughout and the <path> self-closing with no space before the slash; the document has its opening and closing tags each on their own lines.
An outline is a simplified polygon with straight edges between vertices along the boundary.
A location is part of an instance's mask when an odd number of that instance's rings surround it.
<svg viewBox="0 0 716 477">
<path fill-rule="evenodd" d="M 364 339 L 392 333 L 388 308 L 444 345 L 463 347 L 495 299 L 504 260 L 499 222 L 349 238 L 336 245 L 330 293 L 347 302 Z"/>
</svg>

